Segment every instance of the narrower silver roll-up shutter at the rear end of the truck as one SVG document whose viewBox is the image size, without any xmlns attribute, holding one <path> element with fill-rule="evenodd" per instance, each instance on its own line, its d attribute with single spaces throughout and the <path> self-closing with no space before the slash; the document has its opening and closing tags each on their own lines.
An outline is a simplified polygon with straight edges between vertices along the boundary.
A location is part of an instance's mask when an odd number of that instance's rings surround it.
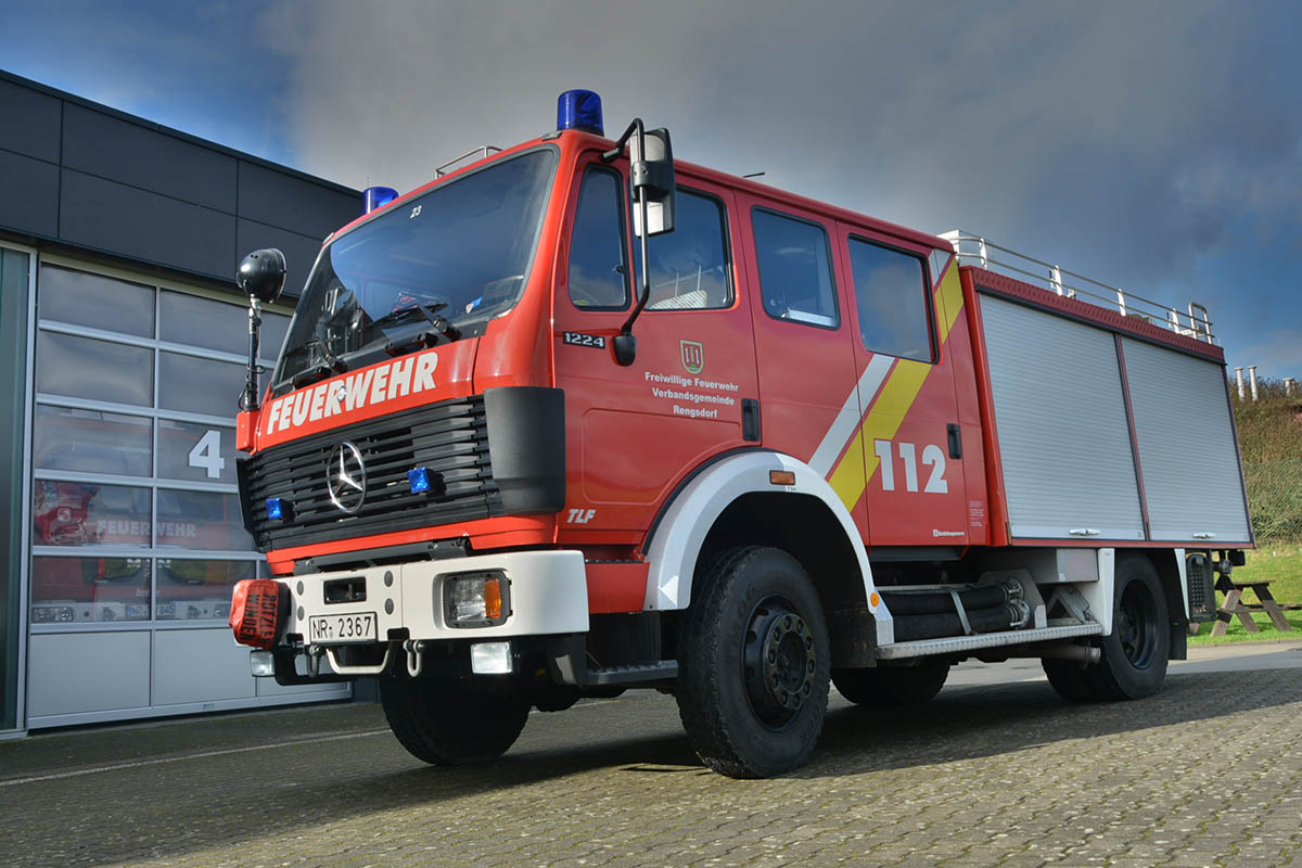
<svg viewBox="0 0 1302 868">
<path fill-rule="evenodd" d="M 1131 338 L 1122 347 L 1152 539 L 1249 541 L 1224 368 Z"/>
</svg>

